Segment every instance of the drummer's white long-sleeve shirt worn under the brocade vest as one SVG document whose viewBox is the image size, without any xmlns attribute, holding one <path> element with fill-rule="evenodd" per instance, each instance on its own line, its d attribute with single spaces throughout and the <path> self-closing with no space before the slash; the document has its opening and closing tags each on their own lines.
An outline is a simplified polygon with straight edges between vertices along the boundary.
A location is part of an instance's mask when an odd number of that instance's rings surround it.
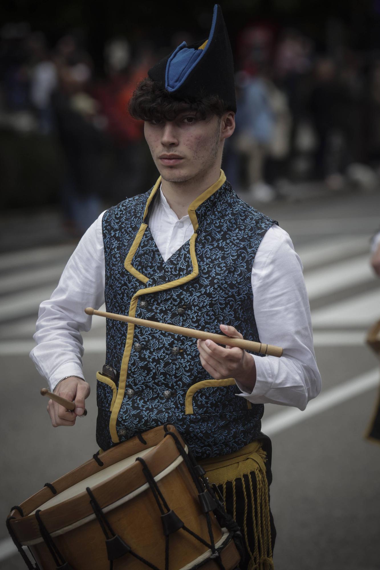
<svg viewBox="0 0 380 570">
<path fill-rule="evenodd" d="M 30 357 L 53 390 L 66 376 L 83 378 L 81 331 L 91 328 L 84 308 L 104 303 L 103 214 L 80 240 L 49 300 L 39 308 L 37 346 Z M 149 228 L 164 260 L 193 234 L 188 215 L 178 219 L 160 190 Z M 253 404 L 281 404 L 305 409 L 321 389 L 313 349 L 310 308 L 302 263 L 286 231 L 273 225 L 258 246 L 251 276 L 253 310 L 261 343 L 284 349 L 283 355 L 254 356 L 257 380 L 252 392 L 238 396 Z M 223 323 L 217 323 L 223 324 Z"/>
</svg>

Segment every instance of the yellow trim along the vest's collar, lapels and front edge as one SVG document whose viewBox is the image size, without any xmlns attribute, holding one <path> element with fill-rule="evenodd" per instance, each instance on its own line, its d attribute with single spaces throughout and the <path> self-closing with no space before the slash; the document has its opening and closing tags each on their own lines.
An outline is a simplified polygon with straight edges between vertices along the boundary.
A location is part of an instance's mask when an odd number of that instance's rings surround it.
<svg viewBox="0 0 380 570">
<path fill-rule="evenodd" d="M 157 285 L 156 287 L 148 287 L 146 289 L 140 289 L 139 291 L 136 291 L 134 296 L 131 299 L 130 310 L 128 311 L 128 316 L 131 316 L 131 317 L 135 316 L 138 297 L 140 295 L 146 295 L 148 293 L 155 293 L 157 291 L 165 291 L 167 289 L 172 289 L 173 287 L 178 287 L 180 285 L 183 285 L 184 283 L 187 283 L 187 282 L 189 282 L 192 279 L 195 279 L 197 277 L 197 275 L 199 274 L 199 267 L 198 267 L 198 262 L 197 262 L 197 258 L 196 258 L 196 254 L 195 254 L 195 240 L 196 240 L 197 235 L 198 235 L 196 233 L 196 230 L 198 229 L 198 220 L 196 217 L 195 210 L 197 209 L 197 207 L 199 207 L 201 205 L 201 203 L 203 203 L 213 193 L 215 193 L 217 190 L 219 190 L 221 185 L 224 184 L 225 180 L 226 180 L 225 174 L 224 174 L 223 170 L 220 170 L 219 180 L 217 180 L 217 182 L 215 182 L 215 184 L 210 186 L 210 188 L 205 190 L 205 192 L 203 192 L 203 194 L 198 196 L 196 198 L 196 200 L 194 200 L 191 203 L 191 205 L 189 206 L 188 214 L 190 216 L 190 219 L 191 219 L 191 222 L 193 225 L 193 229 L 194 229 L 194 233 L 191 236 L 190 242 L 189 242 L 189 250 L 190 250 L 191 262 L 192 262 L 192 266 L 193 266 L 193 270 L 192 270 L 191 274 L 185 275 L 184 277 L 181 277 L 180 279 L 177 279 L 175 281 L 169 281 L 167 283 Z M 153 196 L 157 192 L 157 189 L 159 188 L 160 183 L 161 183 L 161 177 L 159 177 L 156 184 L 153 186 L 151 194 L 149 195 L 149 198 L 147 200 L 147 204 L 145 205 L 143 221 L 144 221 L 144 219 L 148 213 L 149 204 L 153 200 Z M 126 261 L 124 262 L 124 267 L 126 267 L 127 271 L 129 271 L 132 275 L 134 275 L 136 278 L 138 278 L 140 281 L 143 281 L 144 283 L 147 283 L 149 278 L 147 278 L 145 275 L 143 275 L 142 273 L 137 271 L 132 266 L 132 258 L 134 257 L 134 255 L 135 255 L 135 253 L 139 247 L 139 244 L 140 244 L 140 242 L 143 238 L 143 235 L 144 235 L 144 231 L 147 229 L 147 227 L 148 227 L 147 224 L 142 223 L 142 225 L 140 226 L 140 229 L 139 229 L 139 231 L 138 231 L 138 233 L 134 239 L 134 242 L 132 243 L 131 249 L 130 249 L 130 251 L 128 251 Z M 118 432 L 116 430 L 116 422 L 118 421 L 119 411 L 120 411 L 120 408 L 122 406 L 122 402 L 123 402 L 123 398 L 124 398 L 124 392 L 126 390 L 128 363 L 130 361 L 130 356 L 131 356 L 131 351 L 132 351 L 132 342 L 134 339 L 134 330 L 135 330 L 135 325 L 132 323 L 128 323 L 126 345 L 124 347 L 122 365 L 120 367 L 118 393 L 116 395 L 114 408 L 112 409 L 111 418 L 110 418 L 110 433 L 111 433 L 112 442 L 114 442 L 114 443 L 119 443 Z M 231 384 L 235 384 L 235 380 L 233 380 L 233 378 L 231 380 L 232 380 Z M 206 380 L 206 382 L 209 382 L 209 380 Z M 223 382 L 223 380 L 214 380 L 214 382 Z M 199 384 L 202 384 L 202 382 L 199 382 Z M 229 385 L 229 384 L 226 384 L 226 385 Z"/>
</svg>

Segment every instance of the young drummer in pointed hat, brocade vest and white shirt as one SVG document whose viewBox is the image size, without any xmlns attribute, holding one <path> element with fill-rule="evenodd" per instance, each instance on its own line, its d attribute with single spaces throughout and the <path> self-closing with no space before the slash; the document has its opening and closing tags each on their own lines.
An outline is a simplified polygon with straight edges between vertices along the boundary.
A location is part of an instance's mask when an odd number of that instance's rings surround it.
<svg viewBox="0 0 380 570">
<path fill-rule="evenodd" d="M 241 568 L 273 567 L 270 441 L 265 402 L 304 409 L 320 390 L 300 259 L 277 222 L 225 180 L 221 157 L 235 128 L 233 62 L 220 7 L 207 42 L 181 44 L 149 70 L 131 100 L 160 178 L 152 190 L 100 215 L 41 304 L 31 353 L 75 412 L 48 404 L 52 425 L 72 426 L 90 385 L 82 373 L 84 308 L 277 344 L 262 357 L 212 341 L 107 320 L 97 374 L 96 439 L 105 450 L 174 424 L 242 528 Z"/>
</svg>

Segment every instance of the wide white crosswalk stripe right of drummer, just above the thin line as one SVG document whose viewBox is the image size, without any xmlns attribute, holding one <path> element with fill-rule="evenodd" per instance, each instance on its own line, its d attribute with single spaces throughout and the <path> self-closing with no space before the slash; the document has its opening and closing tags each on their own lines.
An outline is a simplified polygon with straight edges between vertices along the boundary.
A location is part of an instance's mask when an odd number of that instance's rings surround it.
<svg viewBox="0 0 380 570">
<path fill-rule="evenodd" d="M 370 327 L 380 317 L 380 287 L 312 311 L 313 327 Z"/>
</svg>

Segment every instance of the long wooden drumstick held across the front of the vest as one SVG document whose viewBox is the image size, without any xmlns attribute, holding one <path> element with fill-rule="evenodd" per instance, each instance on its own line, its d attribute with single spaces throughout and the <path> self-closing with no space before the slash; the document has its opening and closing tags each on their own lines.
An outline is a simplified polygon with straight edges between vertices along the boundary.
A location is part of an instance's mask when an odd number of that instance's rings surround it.
<svg viewBox="0 0 380 570">
<path fill-rule="evenodd" d="M 117 315 L 116 313 L 107 313 L 106 311 L 96 311 L 92 307 L 84 309 L 87 315 L 98 315 L 106 317 L 106 319 L 114 319 L 140 325 L 140 327 L 156 328 L 159 331 L 173 332 L 176 335 L 191 336 L 193 339 L 213 340 L 217 344 L 228 344 L 230 347 L 238 347 L 251 352 L 260 352 L 263 355 L 282 356 L 282 348 L 275 347 L 272 344 L 255 343 L 253 340 L 235 339 L 231 336 L 216 335 L 213 332 L 197 331 L 194 328 L 177 327 L 173 324 L 157 323 L 156 321 L 148 321 L 145 319 L 136 319 L 136 317 L 128 317 L 126 315 Z"/>
</svg>

